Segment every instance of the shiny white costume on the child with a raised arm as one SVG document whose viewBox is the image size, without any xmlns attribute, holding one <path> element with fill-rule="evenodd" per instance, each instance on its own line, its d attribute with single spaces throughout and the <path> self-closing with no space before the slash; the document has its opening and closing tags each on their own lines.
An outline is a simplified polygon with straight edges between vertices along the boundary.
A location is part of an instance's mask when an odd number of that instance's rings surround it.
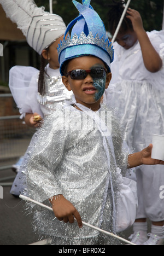
<svg viewBox="0 0 164 256">
<path fill-rule="evenodd" d="M 148 32 L 151 43 L 163 59 L 164 31 Z M 121 114 L 128 147 L 138 152 L 152 141 L 152 133 L 164 135 L 164 68 L 150 73 L 144 66 L 139 42 L 128 50 L 114 43 L 112 81 L 107 102 Z M 136 171 L 139 208 L 137 218 L 154 222 L 164 219 L 163 166 L 140 166 Z"/>
</svg>

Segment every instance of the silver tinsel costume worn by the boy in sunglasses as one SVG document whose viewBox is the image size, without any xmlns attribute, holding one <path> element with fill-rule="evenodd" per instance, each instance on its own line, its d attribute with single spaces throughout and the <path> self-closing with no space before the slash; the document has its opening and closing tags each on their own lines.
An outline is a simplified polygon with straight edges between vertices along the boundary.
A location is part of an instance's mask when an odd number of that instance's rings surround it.
<svg viewBox="0 0 164 256">
<path fill-rule="evenodd" d="M 24 166 L 27 178 L 25 194 L 45 204 L 50 204 L 50 197 L 63 194 L 77 208 L 84 222 L 113 231 L 114 207 L 118 204 L 119 196 L 122 196 L 124 186 L 118 167 L 125 175 L 128 152 L 122 148 L 121 128 L 113 112 L 102 106 L 97 113 L 105 111 L 111 113 L 112 121 L 113 143 L 109 144 L 107 141 L 110 170 L 103 136 L 96 123 L 85 112 L 68 103 L 65 108 L 56 110 L 44 120 L 39 135 L 28 152 L 28 160 Z M 86 126 L 83 126 L 83 122 Z M 109 120 L 108 123 L 111 124 Z M 133 188 L 135 190 L 135 185 Z M 129 196 L 127 190 L 126 193 Z M 132 197 L 131 204 L 135 205 L 136 201 Z M 56 245 L 113 243 L 95 230 L 86 227 L 79 229 L 76 222 L 60 222 L 48 210 L 33 206 L 32 209 L 34 226 L 41 235 L 51 237 Z M 134 219 L 135 216 L 134 211 Z M 121 217 L 124 223 L 124 216 Z"/>
</svg>

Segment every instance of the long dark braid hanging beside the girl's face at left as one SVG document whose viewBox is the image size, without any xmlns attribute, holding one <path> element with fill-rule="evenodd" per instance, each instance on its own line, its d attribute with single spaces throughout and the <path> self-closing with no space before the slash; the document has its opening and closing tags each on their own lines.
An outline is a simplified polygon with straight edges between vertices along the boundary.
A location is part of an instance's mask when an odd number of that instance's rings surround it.
<svg viewBox="0 0 164 256">
<path fill-rule="evenodd" d="M 49 48 L 46 49 L 46 53 L 48 55 Z M 38 79 L 38 92 L 40 95 L 45 95 L 45 79 L 44 74 L 48 75 L 46 73 L 45 67 L 48 64 L 48 61 L 44 59 L 44 57 L 41 55 L 40 59 L 40 72 L 39 72 L 39 79 Z"/>
</svg>

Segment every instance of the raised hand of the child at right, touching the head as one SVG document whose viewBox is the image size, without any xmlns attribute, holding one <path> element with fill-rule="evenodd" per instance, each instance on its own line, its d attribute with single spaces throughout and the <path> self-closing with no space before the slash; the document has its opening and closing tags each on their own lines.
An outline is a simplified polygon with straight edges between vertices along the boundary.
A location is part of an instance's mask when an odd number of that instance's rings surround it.
<svg viewBox="0 0 164 256">
<path fill-rule="evenodd" d="M 138 11 L 128 8 L 127 13 L 129 15 L 126 15 L 126 17 L 132 21 L 133 30 L 135 32 L 138 32 L 139 30 L 143 30 L 142 18 L 138 13 Z"/>
</svg>

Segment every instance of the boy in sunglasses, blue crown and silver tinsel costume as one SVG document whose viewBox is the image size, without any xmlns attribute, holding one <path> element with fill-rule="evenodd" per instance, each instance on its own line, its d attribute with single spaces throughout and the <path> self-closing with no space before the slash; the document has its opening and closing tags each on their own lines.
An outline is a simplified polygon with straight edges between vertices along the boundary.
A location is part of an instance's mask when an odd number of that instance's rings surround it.
<svg viewBox="0 0 164 256">
<path fill-rule="evenodd" d="M 63 83 L 74 101 L 44 120 L 26 166 L 28 196 L 52 204 L 56 218 L 36 208 L 34 220 L 40 234 L 55 245 L 110 245 L 109 238 L 82 228 L 81 219 L 113 232 L 127 227 L 125 214 L 118 218 L 119 200 L 126 200 L 131 222 L 137 202 L 135 184 L 124 184 L 121 173 L 164 162 L 151 159 L 151 144 L 136 154 L 124 150 L 119 120 L 101 105 L 112 77 L 113 49 L 90 1 L 73 2 L 80 15 L 68 25 L 69 30 L 77 21 L 72 39 L 63 40 L 58 54 Z"/>
</svg>

